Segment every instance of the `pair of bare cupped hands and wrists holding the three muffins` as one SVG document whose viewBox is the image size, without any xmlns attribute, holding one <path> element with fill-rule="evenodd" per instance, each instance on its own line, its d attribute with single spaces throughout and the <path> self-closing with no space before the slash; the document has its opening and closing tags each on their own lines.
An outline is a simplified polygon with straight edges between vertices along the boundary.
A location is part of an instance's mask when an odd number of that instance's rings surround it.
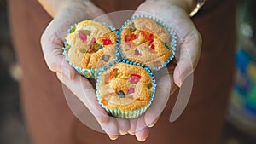
<svg viewBox="0 0 256 144">
<path fill-rule="evenodd" d="M 135 135 L 138 141 L 145 141 L 149 135 L 149 127 L 153 127 L 157 123 L 159 114 L 164 108 L 157 107 L 166 103 L 165 101 L 177 86 L 180 87 L 184 79 L 194 72 L 199 60 L 201 35 L 189 18 L 189 12 L 195 8 L 195 0 L 147 0 L 137 8 L 135 14 L 158 15 L 177 32 L 177 66 L 173 72 L 162 75 L 158 80 L 157 91 L 160 92 L 156 93 L 154 103 L 148 108 L 148 111 L 143 116 L 131 120 L 108 117 L 108 113 L 98 105 L 95 89 L 89 80 L 76 73 L 62 55 L 61 48 L 67 29 L 78 21 L 104 14 L 103 11 L 87 0 L 38 0 L 38 2 L 54 18 L 41 37 L 44 59 L 49 69 L 56 73 L 61 82 L 80 101 L 84 102 L 110 139 L 115 140 L 119 135 L 129 133 Z M 169 77 L 171 84 L 169 80 L 166 80 Z M 90 98 L 84 96 L 81 91 L 90 95 Z M 165 94 L 164 98 L 160 97 Z"/>
</svg>

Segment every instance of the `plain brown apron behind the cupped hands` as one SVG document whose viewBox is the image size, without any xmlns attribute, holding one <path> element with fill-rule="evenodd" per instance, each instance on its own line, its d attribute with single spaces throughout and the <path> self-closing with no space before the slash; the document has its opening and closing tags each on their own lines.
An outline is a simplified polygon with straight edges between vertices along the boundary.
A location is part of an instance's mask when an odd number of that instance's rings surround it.
<svg viewBox="0 0 256 144">
<path fill-rule="evenodd" d="M 95 0 L 106 12 L 136 9 L 143 1 Z M 221 2 L 221 3 L 219 3 Z M 34 144 L 136 144 L 131 135 L 110 141 L 108 135 L 80 123 L 67 106 L 61 82 L 44 62 L 40 36 L 51 18 L 36 0 L 9 0 L 9 16 L 16 56 L 23 70 L 20 82 L 22 108 Z M 201 59 L 188 107 L 174 123 L 169 116 L 176 101 L 172 95 L 159 122 L 145 143 L 216 144 L 227 109 L 234 48 L 236 1 L 213 0 L 195 17 L 203 37 Z"/>
</svg>

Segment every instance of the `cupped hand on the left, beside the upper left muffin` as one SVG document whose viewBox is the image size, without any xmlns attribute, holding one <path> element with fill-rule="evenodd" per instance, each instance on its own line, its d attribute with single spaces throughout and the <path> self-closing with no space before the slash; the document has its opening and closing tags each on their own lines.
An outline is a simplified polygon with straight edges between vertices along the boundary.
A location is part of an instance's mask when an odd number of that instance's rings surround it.
<svg viewBox="0 0 256 144">
<path fill-rule="evenodd" d="M 47 66 L 52 72 L 56 72 L 61 82 L 84 103 L 109 137 L 116 139 L 119 133 L 127 133 L 130 129 L 129 121 L 109 117 L 108 113 L 98 104 L 95 89 L 88 79 L 77 74 L 62 55 L 63 42 L 70 26 L 81 20 L 96 18 L 104 13 L 90 1 L 66 0 L 60 1 L 56 5 L 58 5 L 57 8 L 46 9 L 49 14 L 54 16 L 54 19 L 46 27 L 41 38 Z M 44 5 L 44 8 L 46 7 L 47 5 Z"/>
</svg>

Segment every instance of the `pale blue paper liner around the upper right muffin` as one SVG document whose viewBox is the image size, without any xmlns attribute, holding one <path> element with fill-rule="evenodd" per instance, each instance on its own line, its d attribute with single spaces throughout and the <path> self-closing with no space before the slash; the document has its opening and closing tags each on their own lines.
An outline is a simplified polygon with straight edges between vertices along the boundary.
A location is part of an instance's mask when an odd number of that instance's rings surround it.
<svg viewBox="0 0 256 144">
<path fill-rule="evenodd" d="M 172 37 L 172 55 L 169 57 L 169 59 L 166 60 L 166 62 L 164 62 L 159 67 L 148 66 L 152 71 L 159 71 L 161 68 L 165 67 L 174 58 L 174 55 L 175 55 L 175 52 L 176 52 L 176 48 L 177 48 L 177 34 L 176 34 L 176 32 L 174 32 L 174 30 L 172 30 L 172 28 L 170 26 L 167 26 L 166 23 L 164 23 L 164 21 L 159 20 L 159 19 L 157 19 L 157 18 L 155 18 L 153 16 L 150 16 L 150 15 L 135 15 L 135 16 L 132 16 L 131 19 L 125 21 L 125 24 L 123 26 L 121 26 L 120 31 L 119 31 L 119 41 L 120 41 L 120 33 L 123 31 L 125 26 L 130 24 L 130 22 L 132 20 L 135 20 L 137 18 L 143 18 L 143 17 L 144 18 L 152 19 L 152 20 L 156 21 L 158 24 L 160 24 L 161 26 L 164 26 L 166 28 L 167 32 L 169 32 L 171 37 Z M 123 54 L 122 49 L 120 47 L 120 43 L 118 43 L 117 49 L 119 51 L 119 55 L 120 55 L 121 59 L 128 59 Z M 128 60 L 130 60 L 130 59 L 128 59 Z"/>
</svg>

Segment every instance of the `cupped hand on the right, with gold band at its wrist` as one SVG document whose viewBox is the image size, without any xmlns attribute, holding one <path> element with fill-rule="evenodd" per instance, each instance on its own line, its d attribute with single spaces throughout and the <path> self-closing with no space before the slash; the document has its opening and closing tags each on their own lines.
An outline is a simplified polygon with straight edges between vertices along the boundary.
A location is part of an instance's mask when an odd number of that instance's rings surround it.
<svg viewBox="0 0 256 144">
<path fill-rule="evenodd" d="M 186 3 L 188 2 L 188 3 Z M 201 53 L 201 35 L 190 20 L 190 7 L 194 0 L 148 0 L 142 3 L 135 15 L 151 15 L 160 18 L 177 33 L 177 66 L 173 72 L 160 71 L 157 75 L 157 89 L 152 105 L 140 118 L 130 121 L 129 133 L 136 135 L 139 141 L 145 141 L 148 127 L 154 126 L 168 101 L 169 95 L 181 87 L 185 78 L 194 72 Z M 169 69 L 169 67 L 167 67 Z M 176 86 L 177 85 L 177 86 Z M 148 127 L 147 127 L 148 126 Z"/>
</svg>

